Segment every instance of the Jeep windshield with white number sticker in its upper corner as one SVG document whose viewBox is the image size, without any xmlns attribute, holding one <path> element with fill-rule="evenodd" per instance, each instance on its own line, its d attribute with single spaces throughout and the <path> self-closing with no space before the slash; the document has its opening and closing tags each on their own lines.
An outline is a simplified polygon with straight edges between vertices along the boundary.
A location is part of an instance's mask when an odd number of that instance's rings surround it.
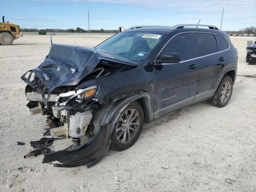
<svg viewBox="0 0 256 192">
<path fill-rule="evenodd" d="M 139 62 L 148 56 L 165 35 L 159 32 L 121 32 L 102 42 L 95 49 Z"/>
</svg>

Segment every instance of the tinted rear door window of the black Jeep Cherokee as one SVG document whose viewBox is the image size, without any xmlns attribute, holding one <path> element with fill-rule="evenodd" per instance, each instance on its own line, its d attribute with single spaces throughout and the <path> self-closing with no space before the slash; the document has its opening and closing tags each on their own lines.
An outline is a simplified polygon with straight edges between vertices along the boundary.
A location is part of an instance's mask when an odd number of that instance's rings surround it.
<svg viewBox="0 0 256 192">
<path fill-rule="evenodd" d="M 198 56 L 205 56 L 218 52 L 218 46 L 214 34 L 195 33 Z"/>
</svg>

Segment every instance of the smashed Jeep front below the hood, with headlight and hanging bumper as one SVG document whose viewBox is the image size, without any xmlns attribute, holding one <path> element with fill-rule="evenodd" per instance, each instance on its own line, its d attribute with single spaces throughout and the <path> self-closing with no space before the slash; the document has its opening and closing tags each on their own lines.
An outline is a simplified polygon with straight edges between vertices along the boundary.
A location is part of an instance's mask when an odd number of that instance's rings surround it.
<svg viewBox="0 0 256 192">
<path fill-rule="evenodd" d="M 49 126 L 48 135 L 52 137 L 72 138 L 72 145 L 58 152 L 45 154 L 43 163 L 57 161 L 55 166 L 80 166 L 88 167 L 96 164 L 106 154 L 109 148 L 109 135 L 112 125 L 92 129 L 92 116 L 101 106 L 97 98 L 97 86 L 84 89 L 64 90 L 58 94 L 53 91 L 46 105 L 39 92 L 31 91 L 26 87 L 26 97 L 29 100 L 30 115 L 47 115 L 46 123 Z M 82 140 L 89 140 L 81 145 Z"/>
</svg>

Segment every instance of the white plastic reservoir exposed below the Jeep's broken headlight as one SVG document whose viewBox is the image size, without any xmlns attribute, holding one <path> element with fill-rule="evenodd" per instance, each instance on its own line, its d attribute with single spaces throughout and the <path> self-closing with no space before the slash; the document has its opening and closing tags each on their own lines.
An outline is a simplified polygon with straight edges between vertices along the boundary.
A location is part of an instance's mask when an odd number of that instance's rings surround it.
<svg viewBox="0 0 256 192">
<path fill-rule="evenodd" d="M 69 130 L 70 137 L 83 137 L 87 130 L 88 125 L 92 119 L 92 112 L 87 110 L 85 112 L 76 112 L 75 115 L 69 117 Z"/>
</svg>

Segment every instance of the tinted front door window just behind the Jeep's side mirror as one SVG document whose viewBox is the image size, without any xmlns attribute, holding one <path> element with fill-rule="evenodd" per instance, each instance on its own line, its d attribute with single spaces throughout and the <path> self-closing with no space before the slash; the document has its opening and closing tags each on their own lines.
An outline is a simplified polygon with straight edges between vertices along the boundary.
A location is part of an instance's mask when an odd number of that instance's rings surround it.
<svg viewBox="0 0 256 192">
<path fill-rule="evenodd" d="M 162 53 L 177 53 L 180 55 L 180 61 L 185 61 L 193 58 L 193 50 L 192 33 L 182 33 L 174 36 Z"/>
</svg>

